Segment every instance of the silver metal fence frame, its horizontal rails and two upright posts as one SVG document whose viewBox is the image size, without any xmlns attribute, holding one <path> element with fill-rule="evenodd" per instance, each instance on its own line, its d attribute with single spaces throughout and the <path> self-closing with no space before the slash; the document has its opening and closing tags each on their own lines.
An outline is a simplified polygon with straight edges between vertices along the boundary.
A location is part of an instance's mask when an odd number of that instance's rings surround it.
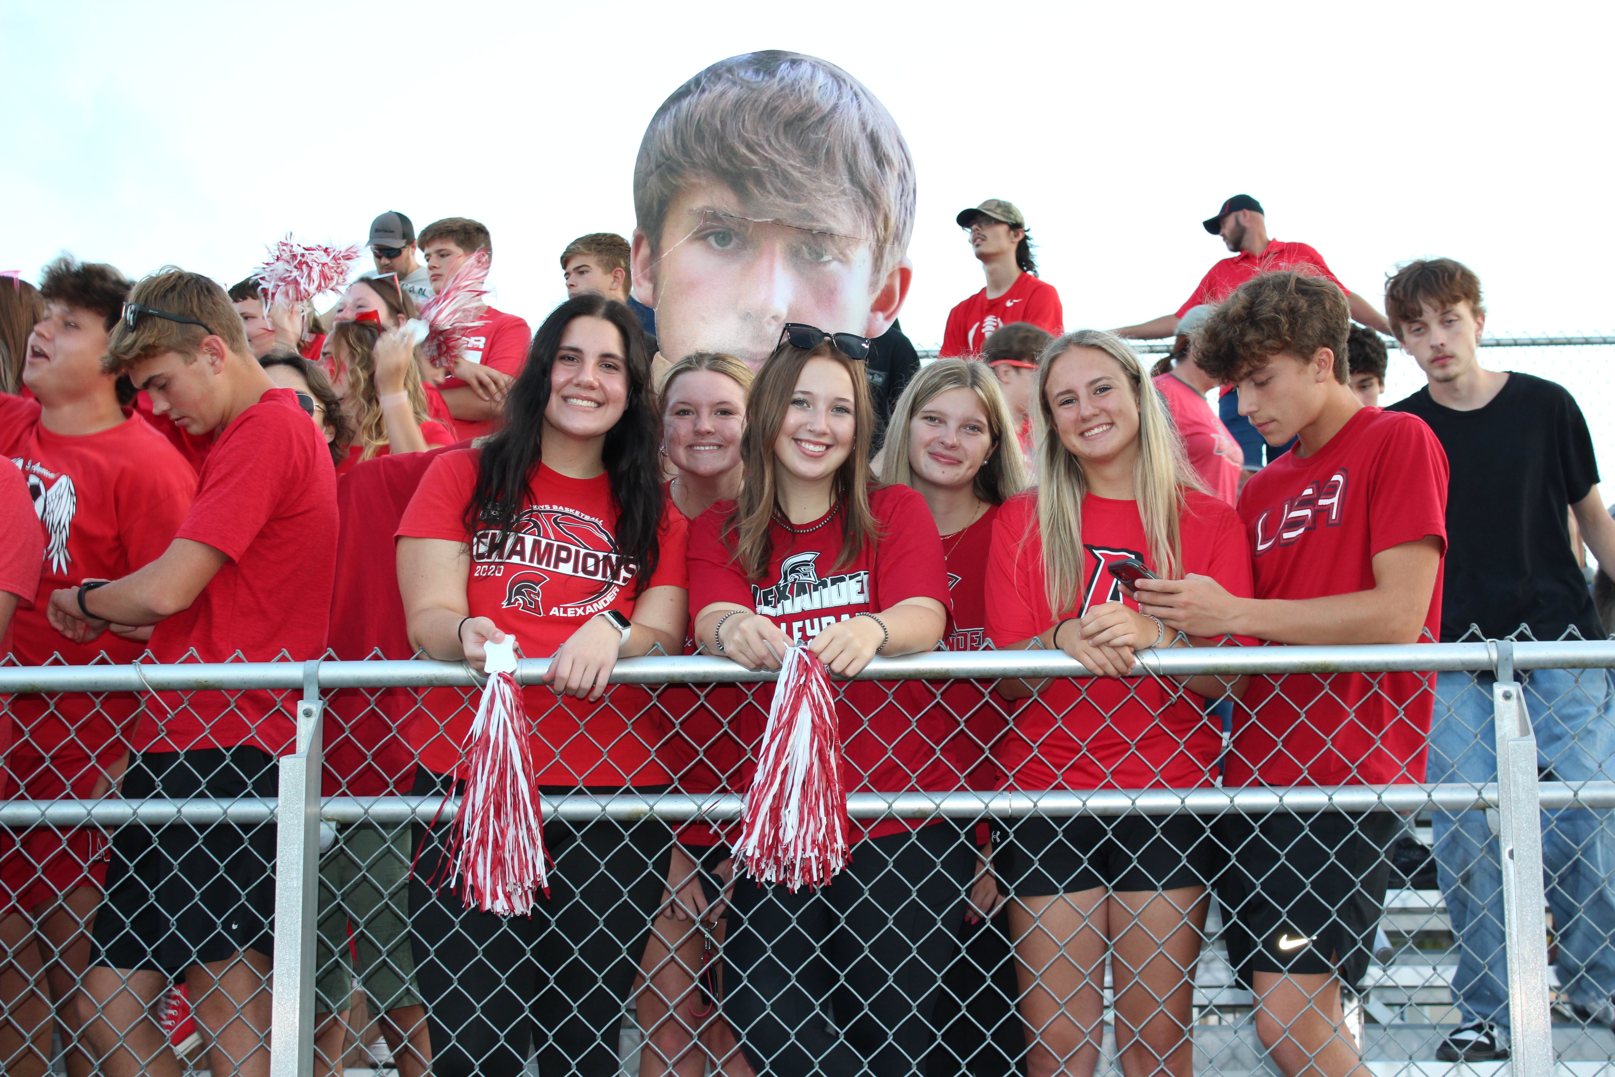
<svg viewBox="0 0 1615 1077">
<path fill-rule="evenodd" d="M 523 660 L 517 680 L 538 681 L 547 660 Z M 1516 672 L 1615 668 L 1615 641 L 1562 643 L 1460 643 L 1416 646 L 1339 647 L 1221 647 L 1214 651 L 1142 652 L 1134 677 L 1211 673 L 1387 673 L 1466 670 L 1495 677 L 1492 714 L 1497 746 L 1495 783 L 1468 785 L 1352 785 L 1352 786 L 1255 786 L 1193 790 L 1098 790 L 1098 791 L 958 791 L 958 793 L 853 793 L 848 814 L 854 820 L 946 817 L 1119 817 L 1119 815 L 1261 815 L 1292 812 L 1365 812 L 1370 809 L 1412 814 L 1437 809 L 1495 811 L 1502 856 L 1504 938 L 1507 946 L 1512 1025 L 1512 1072 L 1547 1077 L 1554 1071 L 1554 1032 L 1549 1011 L 1549 951 L 1544 922 L 1542 809 L 1615 807 L 1615 782 L 1541 780 L 1537 741 Z M 1074 660 L 1040 651 L 929 652 L 901 659 L 877 659 L 858 680 L 963 680 L 1082 677 Z M 614 683 L 717 685 L 769 681 L 772 673 L 748 672 L 715 657 L 648 657 L 619 662 Z M 371 820 L 404 823 L 451 819 L 454 803 L 436 796 L 320 796 L 323 693 L 344 688 L 472 688 L 478 678 L 460 664 L 447 662 L 304 662 L 228 665 L 136 667 L 0 667 L 5 693 L 108 693 L 202 691 L 249 688 L 302 691 L 297 702 L 296 752 L 279 761 L 278 799 L 241 798 L 220 801 L 168 799 L 16 799 L 0 803 L 0 828 L 126 825 L 195 825 L 278 820 L 275 993 L 271 1072 L 302 1077 L 315 1072 L 315 919 L 320 870 L 320 825 Z M 1552 775 L 1549 775 L 1552 777 Z M 612 794 L 546 796 L 546 820 L 585 823 L 610 819 L 633 822 L 732 820 L 740 815 L 738 794 L 686 796 Z M 291 825 L 287 825 L 291 823 Z M 1609 925 L 1605 925 L 1609 927 Z"/>
</svg>

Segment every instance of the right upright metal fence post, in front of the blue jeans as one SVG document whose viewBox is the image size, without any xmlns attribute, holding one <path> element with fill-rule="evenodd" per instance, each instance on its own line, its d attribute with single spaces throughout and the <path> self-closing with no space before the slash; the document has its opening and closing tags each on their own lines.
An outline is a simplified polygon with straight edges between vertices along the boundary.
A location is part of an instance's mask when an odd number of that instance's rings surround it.
<svg viewBox="0 0 1615 1077">
<path fill-rule="evenodd" d="M 1497 844 L 1504 878 L 1504 945 L 1515 1077 L 1554 1072 L 1554 1022 L 1547 1011 L 1547 920 L 1542 916 L 1542 806 L 1536 735 L 1525 688 L 1513 675 L 1513 643 L 1497 643 L 1492 685 L 1497 733 Z"/>
</svg>

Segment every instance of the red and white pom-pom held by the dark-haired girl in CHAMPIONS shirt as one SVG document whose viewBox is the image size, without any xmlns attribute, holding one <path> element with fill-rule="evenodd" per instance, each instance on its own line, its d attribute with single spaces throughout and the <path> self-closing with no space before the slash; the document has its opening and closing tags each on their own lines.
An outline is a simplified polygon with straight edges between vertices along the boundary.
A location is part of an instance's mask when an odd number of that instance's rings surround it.
<svg viewBox="0 0 1615 1077">
<path fill-rule="evenodd" d="M 549 896 L 531 727 L 522 688 L 510 677 L 514 644 L 489 643 L 488 651 L 488 686 L 465 748 L 465 796 L 449 835 L 449 854 L 468 909 L 531 916 L 538 891 Z"/>
</svg>

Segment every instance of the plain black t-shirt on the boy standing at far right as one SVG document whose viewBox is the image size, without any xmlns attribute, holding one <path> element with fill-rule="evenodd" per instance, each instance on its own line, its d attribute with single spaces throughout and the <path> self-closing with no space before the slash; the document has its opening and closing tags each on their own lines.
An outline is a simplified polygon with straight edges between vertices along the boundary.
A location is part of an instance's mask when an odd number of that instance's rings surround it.
<svg viewBox="0 0 1615 1077">
<path fill-rule="evenodd" d="M 1423 388 L 1389 410 L 1412 412 L 1447 450 L 1447 567 L 1441 638 L 1479 625 L 1487 639 L 1526 625 L 1534 639 L 1604 627 L 1570 547 L 1568 509 L 1599 481 L 1592 434 L 1576 400 L 1552 381 L 1510 373 L 1491 404 L 1442 407 Z"/>
</svg>

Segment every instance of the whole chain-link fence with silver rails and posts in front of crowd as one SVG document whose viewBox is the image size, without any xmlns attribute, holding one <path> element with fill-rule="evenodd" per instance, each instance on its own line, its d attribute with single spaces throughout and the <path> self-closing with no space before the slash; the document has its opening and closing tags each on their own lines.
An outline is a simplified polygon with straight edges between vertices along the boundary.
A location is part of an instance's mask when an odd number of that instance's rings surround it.
<svg viewBox="0 0 1615 1077">
<path fill-rule="evenodd" d="M 1516 1074 L 1610 1064 L 1612 667 L 1615 643 L 1583 641 L 1179 649 L 1119 681 L 1037 651 L 875 660 L 837 685 L 851 862 L 791 893 L 727 849 L 772 675 L 623 660 L 591 709 L 528 693 L 536 765 L 627 773 L 546 778 L 531 917 L 468 911 L 452 877 L 460 746 L 434 741 L 476 707 L 462 665 L 0 668 L 0 1064 L 1415 1074 L 1504 1045 Z M 296 715 L 294 754 L 124 759 L 142 701 L 245 691 Z M 1292 725 L 1263 740 L 1274 709 Z M 1455 1048 L 1478 1020 L 1499 1043 Z"/>
</svg>

